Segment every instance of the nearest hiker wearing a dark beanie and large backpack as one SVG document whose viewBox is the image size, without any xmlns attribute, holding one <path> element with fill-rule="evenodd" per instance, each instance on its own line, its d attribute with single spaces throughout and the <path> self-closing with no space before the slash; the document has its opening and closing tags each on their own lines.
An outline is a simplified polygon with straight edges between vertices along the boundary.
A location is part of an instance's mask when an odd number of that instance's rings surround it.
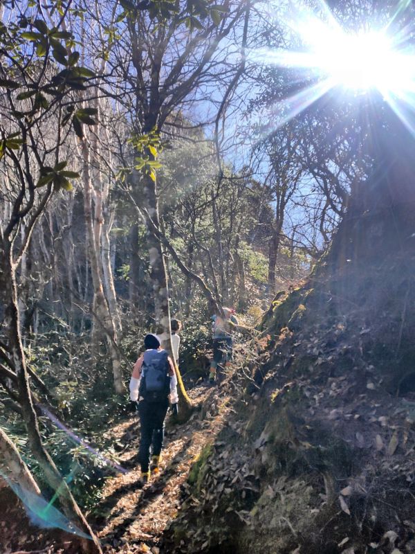
<svg viewBox="0 0 415 554">
<path fill-rule="evenodd" d="M 138 400 L 140 415 L 140 485 L 148 483 L 151 472 L 158 474 L 169 400 L 172 412 L 177 415 L 178 411 L 177 377 L 172 358 L 160 348 L 160 339 L 156 334 L 147 334 L 144 346 L 146 350 L 134 365 L 129 385 L 130 398 L 134 402 Z"/>
</svg>

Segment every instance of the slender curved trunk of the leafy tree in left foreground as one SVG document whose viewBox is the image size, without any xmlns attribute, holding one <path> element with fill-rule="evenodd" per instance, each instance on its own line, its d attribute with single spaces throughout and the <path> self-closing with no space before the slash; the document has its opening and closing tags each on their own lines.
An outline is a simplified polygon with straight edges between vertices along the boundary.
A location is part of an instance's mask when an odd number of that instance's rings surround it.
<svg viewBox="0 0 415 554">
<path fill-rule="evenodd" d="M 7 253 L 4 258 L 5 273 L 8 274 L 8 280 L 6 281 L 6 299 L 8 303 L 6 309 L 6 328 L 8 329 L 8 339 L 12 361 L 17 373 L 19 401 L 28 433 L 30 450 L 33 453 L 37 463 L 39 463 L 40 467 L 42 467 L 46 481 L 50 487 L 57 492 L 66 517 L 68 517 L 68 519 L 76 527 L 73 529 L 73 532 L 76 534 L 76 530 L 78 529 L 82 533 L 91 537 L 91 540 L 77 537 L 80 541 L 80 552 L 90 554 L 102 553 L 98 539 L 93 534 L 88 522 L 84 518 L 84 515 L 82 515 L 79 506 L 77 506 L 75 499 L 73 499 L 66 481 L 62 479 L 55 463 L 44 449 L 44 445 L 42 443 L 37 415 L 35 413 L 32 395 L 30 393 L 26 359 L 19 330 L 16 268 L 11 260 L 11 244 L 4 244 L 3 246 L 6 247 L 4 251 Z"/>
</svg>

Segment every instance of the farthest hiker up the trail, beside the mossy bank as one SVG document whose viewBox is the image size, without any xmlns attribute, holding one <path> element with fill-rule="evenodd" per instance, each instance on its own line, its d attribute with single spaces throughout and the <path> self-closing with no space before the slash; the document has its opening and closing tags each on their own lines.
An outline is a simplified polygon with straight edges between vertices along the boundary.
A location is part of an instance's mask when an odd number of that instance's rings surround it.
<svg viewBox="0 0 415 554">
<path fill-rule="evenodd" d="M 212 316 L 212 333 L 213 333 L 213 359 L 210 362 L 210 374 L 209 382 L 214 384 L 216 380 L 216 368 L 219 364 L 225 362 L 225 366 L 229 366 L 232 361 L 232 334 L 230 321 L 235 325 L 238 325 L 238 320 L 234 316 L 235 310 L 230 307 L 224 307 L 223 313 L 225 319 L 222 316 Z"/>
</svg>

